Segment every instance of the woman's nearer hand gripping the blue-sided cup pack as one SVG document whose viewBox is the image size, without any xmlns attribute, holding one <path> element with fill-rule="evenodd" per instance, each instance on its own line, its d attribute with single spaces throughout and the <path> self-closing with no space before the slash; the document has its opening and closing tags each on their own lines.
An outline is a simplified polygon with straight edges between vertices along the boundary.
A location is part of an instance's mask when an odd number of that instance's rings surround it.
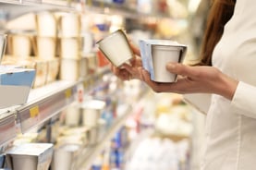
<svg viewBox="0 0 256 170">
<path fill-rule="evenodd" d="M 149 73 L 141 69 L 142 80 L 156 92 L 215 93 L 229 100 L 232 100 L 238 86 L 238 80 L 227 77 L 215 67 L 189 67 L 177 63 L 168 63 L 166 69 L 179 75 L 177 82 L 154 82 L 150 79 Z"/>
</svg>

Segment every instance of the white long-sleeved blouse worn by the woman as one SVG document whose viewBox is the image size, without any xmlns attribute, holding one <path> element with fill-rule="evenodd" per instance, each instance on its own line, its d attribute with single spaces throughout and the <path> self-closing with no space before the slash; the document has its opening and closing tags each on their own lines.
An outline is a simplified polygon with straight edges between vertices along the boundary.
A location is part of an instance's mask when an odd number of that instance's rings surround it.
<svg viewBox="0 0 256 170">
<path fill-rule="evenodd" d="M 213 67 L 239 83 L 232 101 L 212 95 L 202 170 L 256 169 L 255 16 L 255 0 L 237 0 L 234 16 L 213 51 Z"/>
</svg>

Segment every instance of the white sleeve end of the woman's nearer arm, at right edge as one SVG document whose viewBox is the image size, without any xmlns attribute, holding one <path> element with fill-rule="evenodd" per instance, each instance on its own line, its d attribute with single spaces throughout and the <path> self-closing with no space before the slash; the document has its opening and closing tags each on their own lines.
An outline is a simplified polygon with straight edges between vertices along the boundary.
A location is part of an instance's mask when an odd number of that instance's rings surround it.
<svg viewBox="0 0 256 170">
<path fill-rule="evenodd" d="M 256 118 L 256 87 L 239 81 L 231 105 L 241 110 L 241 115 Z"/>
</svg>

